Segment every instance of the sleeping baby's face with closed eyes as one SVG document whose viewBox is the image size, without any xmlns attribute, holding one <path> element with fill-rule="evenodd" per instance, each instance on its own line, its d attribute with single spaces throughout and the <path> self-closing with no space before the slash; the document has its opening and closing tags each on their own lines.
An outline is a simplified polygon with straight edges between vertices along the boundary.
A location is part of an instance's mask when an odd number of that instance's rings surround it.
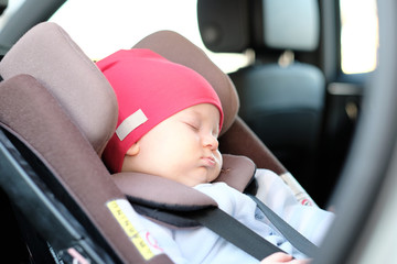
<svg viewBox="0 0 397 264">
<path fill-rule="evenodd" d="M 155 125 L 126 156 L 124 172 L 153 174 L 187 186 L 214 180 L 222 167 L 219 112 L 210 103 L 186 108 Z"/>
</svg>

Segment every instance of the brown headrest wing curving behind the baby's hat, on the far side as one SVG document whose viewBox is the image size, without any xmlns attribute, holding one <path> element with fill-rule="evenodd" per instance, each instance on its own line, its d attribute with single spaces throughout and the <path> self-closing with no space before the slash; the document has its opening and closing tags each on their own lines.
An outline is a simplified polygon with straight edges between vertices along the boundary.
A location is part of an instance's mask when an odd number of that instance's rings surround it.
<svg viewBox="0 0 397 264">
<path fill-rule="evenodd" d="M 224 111 L 224 124 L 221 134 L 233 124 L 239 108 L 236 88 L 207 55 L 182 35 L 172 31 L 155 32 L 132 48 L 149 48 L 167 59 L 182 64 L 201 74 L 217 92 Z"/>
</svg>

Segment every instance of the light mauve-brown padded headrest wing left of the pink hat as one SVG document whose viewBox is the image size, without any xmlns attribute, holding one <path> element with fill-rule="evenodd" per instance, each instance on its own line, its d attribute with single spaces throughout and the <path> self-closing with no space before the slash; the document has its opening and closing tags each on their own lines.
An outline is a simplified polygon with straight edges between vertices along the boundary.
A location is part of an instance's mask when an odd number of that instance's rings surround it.
<svg viewBox="0 0 397 264">
<path fill-rule="evenodd" d="M 9 79 L 28 74 L 58 100 L 100 155 L 117 122 L 117 99 L 96 65 L 57 24 L 41 23 L 24 34 L 0 63 Z"/>
</svg>

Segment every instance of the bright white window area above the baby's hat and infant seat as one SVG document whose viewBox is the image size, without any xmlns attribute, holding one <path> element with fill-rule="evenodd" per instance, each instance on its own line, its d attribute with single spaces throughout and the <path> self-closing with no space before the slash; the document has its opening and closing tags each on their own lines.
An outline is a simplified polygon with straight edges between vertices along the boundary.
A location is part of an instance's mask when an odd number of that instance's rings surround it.
<svg viewBox="0 0 397 264">
<path fill-rule="evenodd" d="M 245 54 L 214 54 L 202 43 L 196 0 L 68 0 L 50 19 L 93 59 L 130 48 L 144 36 L 172 30 L 204 50 L 226 73 L 248 64 Z"/>
</svg>

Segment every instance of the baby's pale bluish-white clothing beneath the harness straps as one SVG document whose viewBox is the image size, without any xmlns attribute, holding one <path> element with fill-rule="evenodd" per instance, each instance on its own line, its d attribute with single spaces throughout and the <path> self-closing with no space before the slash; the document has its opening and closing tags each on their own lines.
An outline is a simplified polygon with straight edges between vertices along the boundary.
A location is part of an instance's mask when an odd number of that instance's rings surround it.
<svg viewBox="0 0 397 264">
<path fill-rule="evenodd" d="M 268 191 L 262 201 L 305 238 L 320 245 L 334 215 L 318 207 L 300 205 L 289 187 L 271 170 L 257 169 L 256 177 L 265 178 L 264 188 Z M 288 254 L 296 258 L 305 257 L 273 228 L 248 196 L 225 183 L 201 184 L 194 188 L 212 197 L 222 210 Z M 176 264 L 259 263 L 207 228 L 172 229 L 144 217 L 141 220 L 155 238 L 157 245 Z"/>
</svg>

